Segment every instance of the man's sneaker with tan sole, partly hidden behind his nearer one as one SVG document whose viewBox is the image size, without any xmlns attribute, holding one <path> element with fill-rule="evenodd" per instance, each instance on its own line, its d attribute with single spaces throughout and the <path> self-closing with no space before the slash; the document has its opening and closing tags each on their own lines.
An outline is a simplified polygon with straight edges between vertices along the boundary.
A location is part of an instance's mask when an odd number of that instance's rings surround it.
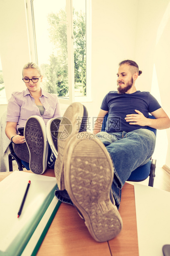
<svg viewBox="0 0 170 256">
<path fill-rule="evenodd" d="M 55 177 L 59 190 L 64 190 L 64 157 L 66 146 L 75 134 L 86 130 L 87 109 L 79 102 L 72 103 L 65 111 L 57 134 L 58 157 L 55 161 Z"/>
</svg>

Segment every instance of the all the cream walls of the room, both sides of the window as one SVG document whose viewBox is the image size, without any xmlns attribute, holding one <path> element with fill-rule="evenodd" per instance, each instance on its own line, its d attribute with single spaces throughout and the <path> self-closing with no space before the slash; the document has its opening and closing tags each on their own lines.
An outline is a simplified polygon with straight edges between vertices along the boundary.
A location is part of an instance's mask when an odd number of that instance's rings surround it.
<svg viewBox="0 0 170 256">
<path fill-rule="evenodd" d="M 40 7 L 41 11 L 41 7 Z M 101 101 L 116 90 L 118 63 L 135 60 L 143 71 L 138 90 L 156 92 L 170 116 L 170 0 L 92 0 L 92 102 L 84 103 L 89 116 L 97 116 Z M 30 61 L 24 0 L 0 0 L 0 56 L 7 99 L 23 90 L 22 68 Z M 165 164 L 170 167 L 170 129 Z"/>
</svg>

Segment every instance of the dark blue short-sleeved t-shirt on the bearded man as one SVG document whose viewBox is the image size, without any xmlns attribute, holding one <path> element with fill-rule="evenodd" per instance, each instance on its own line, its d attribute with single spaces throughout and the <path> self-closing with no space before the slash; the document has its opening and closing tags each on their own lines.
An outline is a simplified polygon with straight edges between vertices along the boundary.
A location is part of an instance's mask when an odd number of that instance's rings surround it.
<svg viewBox="0 0 170 256">
<path fill-rule="evenodd" d="M 148 117 L 149 113 L 159 108 L 161 108 L 160 104 L 149 92 L 136 91 L 121 95 L 117 91 L 110 91 L 101 104 L 101 109 L 108 111 L 105 131 L 107 133 L 131 132 L 140 128 L 147 128 L 147 126 L 129 124 L 125 120 L 126 115 L 137 114 L 136 109 Z"/>
</svg>

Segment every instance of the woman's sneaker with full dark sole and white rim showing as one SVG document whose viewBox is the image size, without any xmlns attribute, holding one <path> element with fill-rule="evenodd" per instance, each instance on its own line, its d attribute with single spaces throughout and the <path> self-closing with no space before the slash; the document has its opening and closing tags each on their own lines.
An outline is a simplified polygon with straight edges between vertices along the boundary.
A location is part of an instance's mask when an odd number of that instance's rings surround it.
<svg viewBox="0 0 170 256">
<path fill-rule="evenodd" d="M 30 170 L 42 174 L 46 170 L 48 143 L 46 125 L 40 116 L 31 116 L 25 123 L 25 142 L 30 152 Z"/>
</svg>

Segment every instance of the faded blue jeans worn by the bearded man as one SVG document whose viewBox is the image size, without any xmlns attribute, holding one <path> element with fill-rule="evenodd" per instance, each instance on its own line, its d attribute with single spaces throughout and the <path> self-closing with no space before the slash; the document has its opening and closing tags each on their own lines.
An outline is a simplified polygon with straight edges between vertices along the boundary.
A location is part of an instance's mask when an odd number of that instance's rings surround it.
<svg viewBox="0 0 170 256">
<path fill-rule="evenodd" d="M 129 133 L 100 132 L 97 133 L 96 137 L 106 146 L 113 161 L 112 192 L 119 209 L 124 183 L 132 171 L 150 160 L 154 153 L 156 137 L 152 131 L 147 129 L 138 129 Z M 72 204 L 66 190 L 56 190 L 55 195 L 60 201 Z"/>
</svg>

